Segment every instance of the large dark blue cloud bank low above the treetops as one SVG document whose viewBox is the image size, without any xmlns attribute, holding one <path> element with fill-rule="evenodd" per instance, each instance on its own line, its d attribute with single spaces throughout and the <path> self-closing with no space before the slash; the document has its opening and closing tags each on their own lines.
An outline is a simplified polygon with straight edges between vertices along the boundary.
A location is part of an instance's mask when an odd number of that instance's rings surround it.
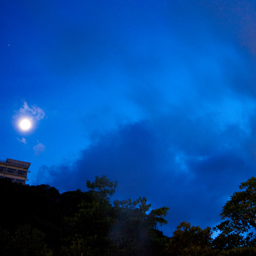
<svg viewBox="0 0 256 256">
<path fill-rule="evenodd" d="M 216 116 L 189 117 L 180 111 L 122 125 L 81 151 L 73 163 L 42 166 L 43 176 L 61 191 L 86 189 L 86 180 L 118 180 L 119 199 L 145 196 L 153 207 L 170 207 L 171 234 L 181 221 L 215 225 L 225 200 L 253 175 L 247 134 L 240 125 L 218 126 Z"/>
</svg>

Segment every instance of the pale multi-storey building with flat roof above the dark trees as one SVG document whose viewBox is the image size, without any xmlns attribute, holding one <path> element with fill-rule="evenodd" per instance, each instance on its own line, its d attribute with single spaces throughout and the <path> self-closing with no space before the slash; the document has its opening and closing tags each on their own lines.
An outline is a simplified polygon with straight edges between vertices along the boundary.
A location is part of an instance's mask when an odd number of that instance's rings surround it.
<svg viewBox="0 0 256 256">
<path fill-rule="evenodd" d="M 12 182 L 26 184 L 30 163 L 7 158 L 0 160 L 0 179 L 8 178 Z"/>
</svg>

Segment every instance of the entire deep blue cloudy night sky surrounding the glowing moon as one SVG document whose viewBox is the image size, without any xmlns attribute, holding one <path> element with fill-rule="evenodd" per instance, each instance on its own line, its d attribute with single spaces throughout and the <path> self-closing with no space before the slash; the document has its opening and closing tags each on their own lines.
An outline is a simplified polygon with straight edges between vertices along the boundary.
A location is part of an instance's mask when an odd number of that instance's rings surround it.
<svg viewBox="0 0 256 256">
<path fill-rule="evenodd" d="M 30 162 L 28 184 L 106 175 L 169 207 L 171 236 L 255 176 L 255 1 L 11 0 L 0 24 L 0 159 Z"/>
</svg>

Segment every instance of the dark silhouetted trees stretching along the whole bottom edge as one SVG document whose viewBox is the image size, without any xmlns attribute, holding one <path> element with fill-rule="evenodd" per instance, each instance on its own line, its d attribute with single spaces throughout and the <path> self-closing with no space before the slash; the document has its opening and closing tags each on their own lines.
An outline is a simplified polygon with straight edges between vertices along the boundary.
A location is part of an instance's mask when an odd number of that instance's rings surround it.
<svg viewBox="0 0 256 256">
<path fill-rule="evenodd" d="M 146 198 L 111 202 L 118 182 L 106 176 L 87 181 L 89 191 L 59 194 L 49 185 L 20 185 L 0 179 L 0 255 L 7 256 L 181 256 L 256 255 L 256 179 L 241 183 L 214 229 L 182 222 L 173 237 L 168 207 L 151 209 Z M 219 231 L 212 238 L 212 230 Z"/>
</svg>

